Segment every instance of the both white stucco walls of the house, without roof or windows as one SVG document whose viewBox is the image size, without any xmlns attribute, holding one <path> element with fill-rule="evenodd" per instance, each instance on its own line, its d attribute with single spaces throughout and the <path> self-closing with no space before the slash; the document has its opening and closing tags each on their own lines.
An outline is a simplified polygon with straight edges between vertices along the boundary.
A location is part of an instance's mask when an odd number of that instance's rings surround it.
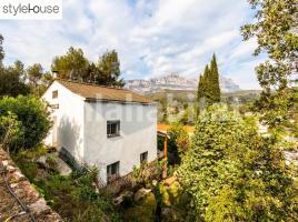
<svg viewBox="0 0 298 222">
<path fill-rule="evenodd" d="M 58 98 L 52 99 L 52 91 Z M 107 182 L 107 165 L 120 161 L 120 175 L 140 164 L 140 154 L 148 151 L 148 161 L 157 159 L 157 105 L 117 102 L 87 102 L 58 82 L 42 95 L 57 117 L 58 148 L 66 148 L 78 161 L 97 165 Z M 107 137 L 107 121 L 120 121 L 120 137 Z M 52 130 L 44 142 L 52 145 Z"/>
</svg>

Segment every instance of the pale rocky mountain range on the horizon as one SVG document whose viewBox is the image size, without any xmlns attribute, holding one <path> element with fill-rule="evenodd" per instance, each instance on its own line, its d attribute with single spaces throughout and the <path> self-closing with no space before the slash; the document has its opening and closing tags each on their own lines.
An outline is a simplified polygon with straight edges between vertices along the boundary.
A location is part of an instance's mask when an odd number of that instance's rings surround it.
<svg viewBox="0 0 298 222">
<path fill-rule="evenodd" d="M 220 89 L 222 92 L 235 92 L 241 90 L 231 79 L 220 75 Z M 181 77 L 179 73 L 151 78 L 149 80 L 127 80 L 126 87 L 141 94 L 151 94 L 162 90 L 197 90 L 198 80 L 195 78 Z"/>
</svg>

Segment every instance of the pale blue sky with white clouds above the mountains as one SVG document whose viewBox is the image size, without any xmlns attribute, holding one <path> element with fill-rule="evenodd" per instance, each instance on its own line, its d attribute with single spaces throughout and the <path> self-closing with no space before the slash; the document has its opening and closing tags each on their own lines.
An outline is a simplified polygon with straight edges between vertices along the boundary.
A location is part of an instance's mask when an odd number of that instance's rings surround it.
<svg viewBox="0 0 298 222">
<path fill-rule="evenodd" d="M 198 77 L 216 52 L 220 73 L 242 89 L 258 89 L 251 53 L 240 27 L 252 19 L 246 0 L 63 0 L 63 20 L 0 21 L 6 64 L 19 59 L 50 69 L 70 46 L 90 60 L 119 53 L 125 79 L 170 72 Z"/>
</svg>

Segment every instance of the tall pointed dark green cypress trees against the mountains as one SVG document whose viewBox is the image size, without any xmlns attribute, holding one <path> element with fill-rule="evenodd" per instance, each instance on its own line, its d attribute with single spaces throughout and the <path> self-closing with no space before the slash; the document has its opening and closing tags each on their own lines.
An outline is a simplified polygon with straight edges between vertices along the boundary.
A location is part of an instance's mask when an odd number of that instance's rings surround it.
<svg viewBox="0 0 298 222">
<path fill-rule="evenodd" d="M 213 54 L 210 67 L 206 65 L 202 75 L 200 75 L 197 91 L 197 103 L 200 109 L 205 100 L 207 105 L 220 102 L 219 72 L 217 68 L 216 54 Z"/>
</svg>

